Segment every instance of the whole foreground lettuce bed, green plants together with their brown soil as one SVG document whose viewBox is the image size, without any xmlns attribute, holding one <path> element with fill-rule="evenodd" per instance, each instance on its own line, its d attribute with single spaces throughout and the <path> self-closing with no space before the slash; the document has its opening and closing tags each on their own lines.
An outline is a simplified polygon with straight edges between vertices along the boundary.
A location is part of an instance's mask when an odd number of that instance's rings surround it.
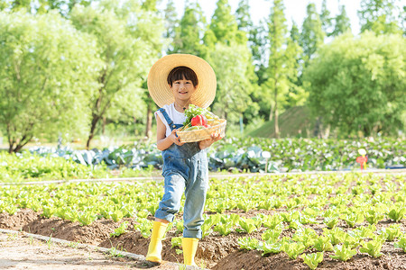
<svg viewBox="0 0 406 270">
<path fill-rule="evenodd" d="M 210 183 L 198 266 L 406 266 L 404 173 L 227 177 Z M 152 181 L 4 186 L 0 228 L 145 255 L 162 192 L 162 184 Z M 180 212 L 168 228 L 164 260 L 182 261 L 182 230 Z"/>
</svg>

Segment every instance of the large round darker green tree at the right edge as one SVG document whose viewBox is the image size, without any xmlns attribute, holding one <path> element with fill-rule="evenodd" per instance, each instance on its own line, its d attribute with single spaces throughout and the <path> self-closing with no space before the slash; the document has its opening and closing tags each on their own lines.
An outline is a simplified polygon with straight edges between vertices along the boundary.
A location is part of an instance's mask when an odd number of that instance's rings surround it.
<svg viewBox="0 0 406 270">
<path fill-rule="evenodd" d="M 405 45 L 401 35 L 365 32 L 324 46 L 304 76 L 312 111 L 346 135 L 404 130 Z"/>
</svg>

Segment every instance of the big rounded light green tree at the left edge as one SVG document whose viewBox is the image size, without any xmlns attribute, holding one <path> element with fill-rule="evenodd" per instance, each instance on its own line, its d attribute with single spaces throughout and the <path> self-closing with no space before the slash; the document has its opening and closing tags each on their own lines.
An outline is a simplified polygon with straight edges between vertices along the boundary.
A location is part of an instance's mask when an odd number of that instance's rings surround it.
<svg viewBox="0 0 406 270">
<path fill-rule="evenodd" d="M 86 133 L 100 67 L 95 40 L 59 14 L 0 13 L 0 44 L 0 129 L 8 151 L 34 137 Z"/>
</svg>

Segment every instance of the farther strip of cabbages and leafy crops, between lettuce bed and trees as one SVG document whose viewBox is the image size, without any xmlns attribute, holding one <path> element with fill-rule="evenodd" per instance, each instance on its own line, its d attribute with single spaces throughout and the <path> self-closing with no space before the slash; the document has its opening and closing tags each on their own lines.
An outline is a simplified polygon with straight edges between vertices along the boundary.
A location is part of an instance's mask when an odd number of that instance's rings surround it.
<svg viewBox="0 0 406 270">
<path fill-rule="evenodd" d="M 406 166 L 406 143 L 402 139 L 223 139 L 208 149 L 211 171 L 286 172 L 358 169 L 358 149 L 368 156 L 367 167 Z M 161 169 L 161 151 L 150 142 L 104 149 L 74 150 L 69 147 L 35 147 L 17 155 L 1 153 L 0 181 L 22 179 L 97 178 L 124 176 Z"/>
</svg>

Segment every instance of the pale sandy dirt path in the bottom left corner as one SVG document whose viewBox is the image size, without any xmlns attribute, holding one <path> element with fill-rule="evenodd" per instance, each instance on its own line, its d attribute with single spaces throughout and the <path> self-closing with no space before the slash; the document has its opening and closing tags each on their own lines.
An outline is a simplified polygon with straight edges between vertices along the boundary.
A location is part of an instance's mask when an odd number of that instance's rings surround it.
<svg viewBox="0 0 406 270">
<path fill-rule="evenodd" d="M 142 259 L 121 256 L 74 242 L 57 243 L 23 232 L 0 232 L 0 269 L 179 269 L 171 263 L 149 266 Z"/>
</svg>

